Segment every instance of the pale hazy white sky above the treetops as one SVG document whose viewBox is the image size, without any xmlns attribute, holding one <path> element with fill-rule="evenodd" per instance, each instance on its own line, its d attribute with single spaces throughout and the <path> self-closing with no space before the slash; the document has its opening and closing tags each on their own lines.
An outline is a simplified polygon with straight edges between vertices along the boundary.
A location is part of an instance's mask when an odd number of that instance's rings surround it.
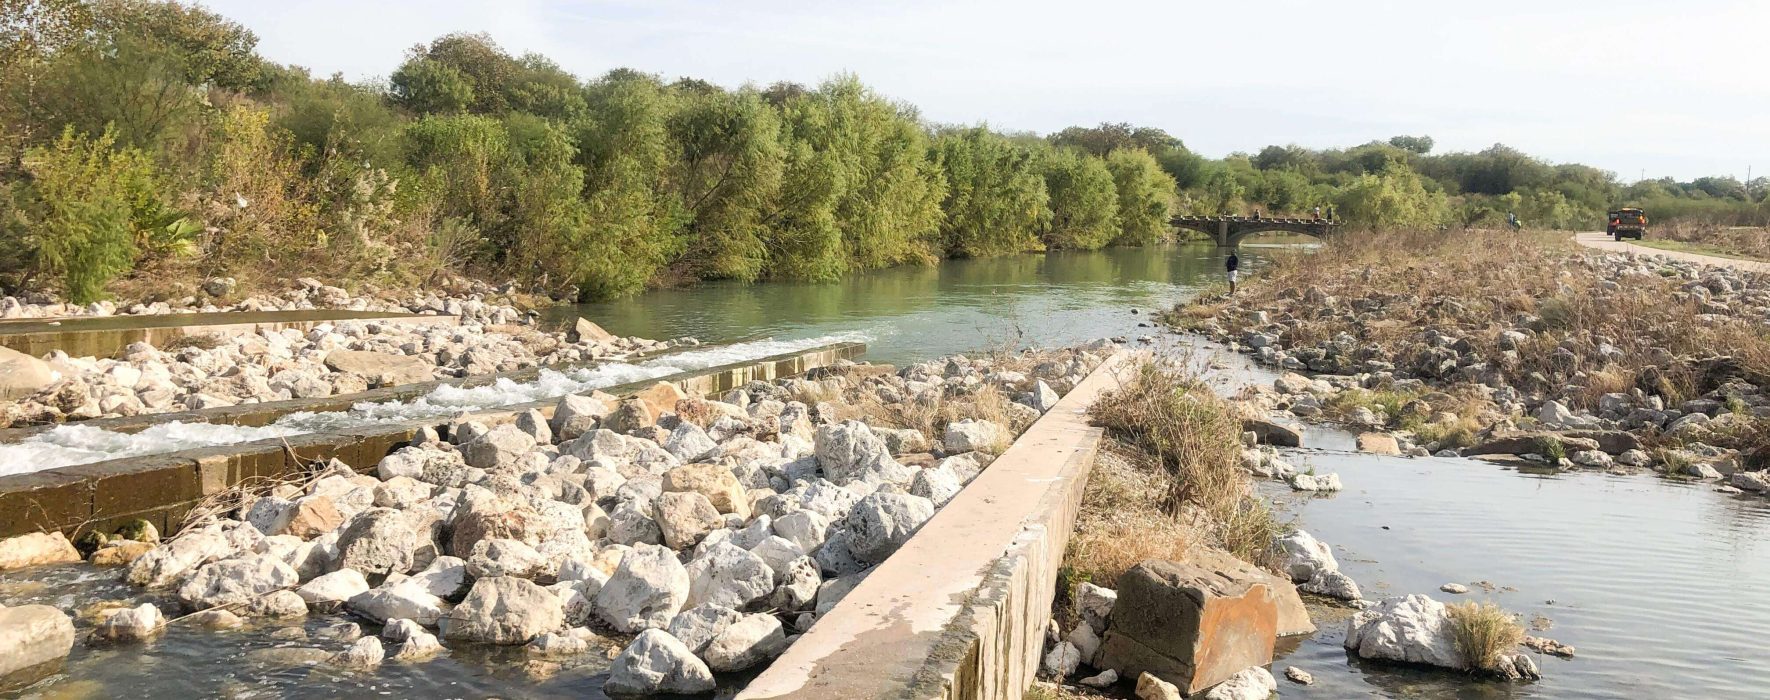
<svg viewBox="0 0 1770 700">
<path fill-rule="evenodd" d="M 1770 2 L 205 0 L 271 60 L 384 78 L 489 32 L 581 76 L 857 73 L 936 122 L 1158 126 L 1209 156 L 1430 135 L 1623 181 L 1770 174 Z"/>
</svg>

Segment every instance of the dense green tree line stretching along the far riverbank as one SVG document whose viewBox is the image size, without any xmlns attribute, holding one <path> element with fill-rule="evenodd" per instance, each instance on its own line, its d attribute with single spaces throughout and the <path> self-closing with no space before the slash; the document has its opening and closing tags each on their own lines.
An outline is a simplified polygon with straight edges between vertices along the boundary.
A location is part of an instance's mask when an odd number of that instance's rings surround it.
<svg viewBox="0 0 1770 700">
<path fill-rule="evenodd" d="M 384 82 L 349 83 L 264 60 L 250 30 L 195 5 L 0 0 L 0 291 L 76 301 L 131 280 L 296 269 L 382 285 L 453 271 L 586 299 L 832 280 L 1147 245 L 1175 209 L 1336 206 L 1363 225 L 1508 209 L 1565 223 L 1623 195 L 1763 209 L 1761 186 L 1625 191 L 1504 147 L 1432 156 L 1425 136 L 1207 159 L 1127 124 L 927 124 L 853 76 L 735 90 L 630 69 L 582 80 L 451 34 Z"/>
</svg>

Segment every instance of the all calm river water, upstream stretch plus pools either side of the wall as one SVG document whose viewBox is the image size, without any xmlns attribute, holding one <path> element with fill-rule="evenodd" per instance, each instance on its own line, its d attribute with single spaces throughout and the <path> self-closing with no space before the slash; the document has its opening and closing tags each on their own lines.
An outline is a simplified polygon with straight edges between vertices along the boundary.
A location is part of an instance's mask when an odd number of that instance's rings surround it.
<svg viewBox="0 0 1770 700">
<path fill-rule="evenodd" d="M 1246 246 L 1258 268 L 1267 248 Z M 550 319 L 595 319 L 621 335 L 694 335 L 719 344 L 772 337 L 804 340 L 857 333 L 874 362 L 919 362 L 1005 344 L 1057 346 L 1097 337 L 1161 335 L 1149 310 L 1221 278 L 1205 245 L 1115 248 L 899 268 L 830 285 L 706 284 L 635 299 L 556 310 Z M 1133 314 L 1133 308 L 1136 310 Z M 1166 342 L 1177 338 L 1168 337 Z M 1246 358 L 1218 358 L 1218 379 L 1271 381 Z M 1441 601 L 1494 599 L 1528 618 L 1552 620 L 1551 636 L 1579 647 L 1575 659 L 1538 657 L 1533 684 L 1476 682 L 1435 670 L 1363 663 L 1340 649 L 1343 620 L 1290 640 L 1274 661 L 1315 677 L 1280 681 L 1285 696 L 1496 698 L 1496 696 L 1761 696 L 1770 657 L 1770 503 L 1713 493 L 1701 484 L 1600 473 L 1533 475 L 1466 459 L 1372 457 L 1345 450 L 1351 436 L 1312 429 L 1289 459 L 1338 471 L 1347 491 L 1304 498 L 1276 484 L 1262 493 L 1285 517 L 1326 542 L 1368 597 L 1421 592 Z M 76 611 L 96 599 L 140 595 L 117 572 L 55 567 L 0 576 L 0 604 L 51 603 Z M 1437 587 L 1458 581 L 1469 595 Z M 1485 592 L 1476 581 L 1496 585 Z M 166 606 L 165 610 L 172 610 Z M 315 615 L 315 633 L 343 617 Z M 85 624 L 80 626 L 87 629 Z M 292 640 L 274 622 L 235 633 L 175 629 L 142 647 L 80 643 L 50 696 L 602 696 L 598 666 L 531 675 L 520 650 L 451 649 L 425 665 L 386 665 L 366 675 L 331 675 L 274 661 L 262 649 L 340 642 Z M 373 626 L 368 626 L 373 633 Z M 742 682 L 740 679 L 736 682 Z"/>
</svg>

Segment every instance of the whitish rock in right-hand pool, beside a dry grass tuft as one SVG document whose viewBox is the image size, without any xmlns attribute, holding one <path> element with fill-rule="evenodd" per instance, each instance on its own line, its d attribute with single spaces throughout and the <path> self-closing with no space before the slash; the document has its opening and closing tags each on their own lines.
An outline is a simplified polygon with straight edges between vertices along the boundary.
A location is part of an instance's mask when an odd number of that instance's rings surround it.
<svg viewBox="0 0 1770 700">
<path fill-rule="evenodd" d="M 1418 594 L 1386 597 L 1354 613 L 1345 649 L 1365 659 L 1464 668 L 1444 604 Z"/>
</svg>

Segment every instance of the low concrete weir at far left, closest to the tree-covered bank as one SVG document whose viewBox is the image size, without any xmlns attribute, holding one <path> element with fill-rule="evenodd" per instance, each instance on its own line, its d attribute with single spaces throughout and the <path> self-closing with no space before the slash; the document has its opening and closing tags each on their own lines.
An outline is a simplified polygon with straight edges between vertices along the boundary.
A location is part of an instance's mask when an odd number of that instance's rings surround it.
<svg viewBox="0 0 1770 700">
<path fill-rule="evenodd" d="M 161 346 L 186 335 L 235 335 L 260 330 L 312 330 L 322 323 L 375 321 L 400 324 L 458 326 L 457 315 L 421 315 L 398 312 L 218 312 L 158 315 L 94 315 L 71 319 L 0 321 L 0 346 L 30 356 L 64 351 L 73 356 L 108 358 L 131 342 Z"/>
</svg>

